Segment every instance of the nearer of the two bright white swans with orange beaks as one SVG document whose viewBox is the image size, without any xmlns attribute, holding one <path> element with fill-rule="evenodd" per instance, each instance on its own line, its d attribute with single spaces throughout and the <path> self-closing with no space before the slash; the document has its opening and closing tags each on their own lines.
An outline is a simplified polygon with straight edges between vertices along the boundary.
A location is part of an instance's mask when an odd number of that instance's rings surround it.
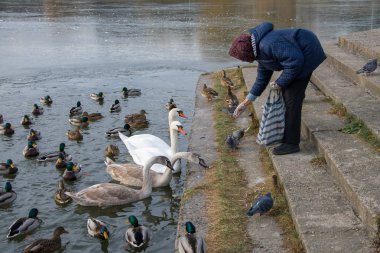
<svg viewBox="0 0 380 253">
<path fill-rule="evenodd" d="M 173 121 L 170 124 L 170 146 L 152 134 L 139 134 L 127 137 L 119 133 L 119 137 L 127 147 L 133 161 L 143 166 L 152 156 L 162 155 L 170 159 L 173 154 L 177 153 L 178 132 L 186 135 L 182 124 L 179 121 Z M 152 170 L 164 173 L 165 166 L 155 164 Z M 174 167 L 174 171 L 180 171 L 180 166 Z"/>
</svg>

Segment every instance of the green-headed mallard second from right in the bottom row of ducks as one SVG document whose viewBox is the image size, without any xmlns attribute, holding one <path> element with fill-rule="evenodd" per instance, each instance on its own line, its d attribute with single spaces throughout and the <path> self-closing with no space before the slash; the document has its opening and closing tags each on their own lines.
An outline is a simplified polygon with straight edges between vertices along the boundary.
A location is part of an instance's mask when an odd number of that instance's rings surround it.
<svg viewBox="0 0 380 253">
<path fill-rule="evenodd" d="M 149 228 L 139 224 L 136 216 L 130 215 L 128 221 L 131 226 L 125 232 L 125 240 L 133 247 L 141 247 L 149 242 L 152 233 Z"/>
</svg>

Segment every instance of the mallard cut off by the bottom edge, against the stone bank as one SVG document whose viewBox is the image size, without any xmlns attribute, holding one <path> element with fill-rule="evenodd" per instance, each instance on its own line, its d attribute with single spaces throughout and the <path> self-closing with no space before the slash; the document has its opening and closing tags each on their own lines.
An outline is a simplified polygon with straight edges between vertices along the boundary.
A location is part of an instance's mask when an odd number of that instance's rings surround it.
<svg viewBox="0 0 380 253">
<path fill-rule="evenodd" d="M 206 253 L 206 242 L 199 234 L 195 234 L 195 226 L 190 221 L 186 222 L 186 235 L 178 238 L 179 253 Z"/>
</svg>

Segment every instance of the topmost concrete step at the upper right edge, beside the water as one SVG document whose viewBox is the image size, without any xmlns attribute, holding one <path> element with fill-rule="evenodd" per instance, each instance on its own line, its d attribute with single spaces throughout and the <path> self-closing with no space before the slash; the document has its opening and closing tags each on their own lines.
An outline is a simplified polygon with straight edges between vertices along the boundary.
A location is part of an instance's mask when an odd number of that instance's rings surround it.
<svg viewBox="0 0 380 253">
<path fill-rule="evenodd" d="M 380 28 L 340 36 L 338 44 L 353 54 L 380 59 Z"/>
</svg>

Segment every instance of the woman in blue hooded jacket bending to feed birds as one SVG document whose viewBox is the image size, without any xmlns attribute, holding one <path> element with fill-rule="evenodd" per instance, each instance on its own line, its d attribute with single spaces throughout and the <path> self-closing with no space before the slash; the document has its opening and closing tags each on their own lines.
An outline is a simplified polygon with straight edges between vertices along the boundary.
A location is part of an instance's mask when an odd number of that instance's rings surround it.
<svg viewBox="0 0 380 253">
<path fill-rule="evenodd" d="M 258 62 L 256 81 L 236 108 L 235 118 L 261 95 L 273 71 L 282 71 L 271 87 L 282 90 L 286 107 L 285 131 L 282 144 L 272 152 L 275 155 L 298 152 L 306 86 L 312 72 L 326 59 L 318 38 L 305 29 L 274 30 L 273 24 L 264 22 L 250 29 L 249 34 L 235 38 L 229 55 L 245 62 Z"/>
</svg>

